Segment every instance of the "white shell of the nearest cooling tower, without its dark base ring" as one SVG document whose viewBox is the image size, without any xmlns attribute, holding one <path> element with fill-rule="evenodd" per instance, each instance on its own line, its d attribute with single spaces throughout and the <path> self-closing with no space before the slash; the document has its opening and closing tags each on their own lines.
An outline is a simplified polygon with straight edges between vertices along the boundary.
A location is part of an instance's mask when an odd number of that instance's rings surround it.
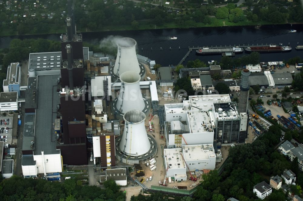
<svg viewBox="0 0 303 201">
<path fill-rule="evenodd" d="M 146 154 L 151 143 L 145 129 L 145 114 L 139 110 L 131 110 L 124 114 L 125 127 L 119 148 L 128 155 Z"/>
</svg>

